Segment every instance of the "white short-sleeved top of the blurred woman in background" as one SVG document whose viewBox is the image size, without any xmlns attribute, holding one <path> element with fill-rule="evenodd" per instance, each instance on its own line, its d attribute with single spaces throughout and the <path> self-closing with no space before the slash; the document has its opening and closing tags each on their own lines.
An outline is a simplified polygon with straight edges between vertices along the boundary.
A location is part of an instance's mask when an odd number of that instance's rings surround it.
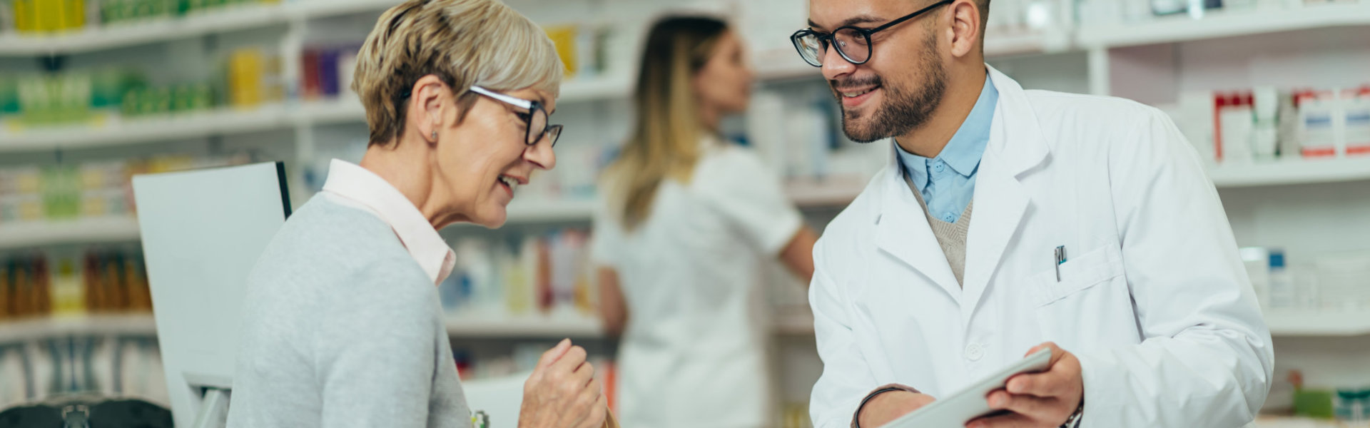
<svg viewBox="0 0 1370 428">
<path fill-rule="evenodd" d="M 767 417 L 759 274 L 801 225 L 749 151 L 706 139 L 689 184 L 666 180 L 632 232 L 601 198 L 593 259 L 618 272 L 623 427 L 760 427 Z M 601 185 L 612 193 L 614 177 Z"/>
</svg>

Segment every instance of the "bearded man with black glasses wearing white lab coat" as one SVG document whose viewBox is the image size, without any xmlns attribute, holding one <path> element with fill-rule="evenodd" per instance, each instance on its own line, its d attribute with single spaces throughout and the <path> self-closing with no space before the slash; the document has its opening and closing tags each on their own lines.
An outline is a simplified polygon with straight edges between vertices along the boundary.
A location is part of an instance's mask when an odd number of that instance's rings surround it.
<svg viewBox="0 0 1370 428">
<path fill-rule="evenodd" d="M 814 425 L 881 425 L 1040 347 L 1049 370 L 970 427 L 1247 424 L 1270 332 L 1195 151 L 1156 108 L 988 69 L 988 8 L 811 0 L 792 37 L 847 134 L 895 141 L 814 250 Z"/>
</svg>

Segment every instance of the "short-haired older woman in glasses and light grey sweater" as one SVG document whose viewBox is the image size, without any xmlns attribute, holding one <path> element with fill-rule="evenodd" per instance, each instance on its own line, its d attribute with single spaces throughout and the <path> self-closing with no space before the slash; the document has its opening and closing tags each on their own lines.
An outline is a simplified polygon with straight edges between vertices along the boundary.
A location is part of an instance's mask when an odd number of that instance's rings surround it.
<svg viewBox="0 0 1370 428">
<path fill-rule="evenodd" d="M 437 284 L 453 222 L 504 224 L 552 169 L 562 63 L 493 0 L 411 0 L 358 54 L 360 165 L 333 160 L 249 277 L 229 427 L 470 427 Z M 597 428 L 585 350 L 563 340 L 523 387 L 519 427 Z"/>
</svg>

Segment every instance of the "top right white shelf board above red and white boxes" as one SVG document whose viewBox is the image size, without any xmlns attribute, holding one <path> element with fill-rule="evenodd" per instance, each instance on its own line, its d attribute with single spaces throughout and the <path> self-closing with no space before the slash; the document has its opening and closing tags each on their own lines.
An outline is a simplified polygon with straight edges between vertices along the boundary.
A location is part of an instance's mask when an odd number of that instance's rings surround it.
<svg viewBox="0 0 1370 428">
<path fill-rule="evenodd" d="M 1075 40 L 1085 48 L 1118 48 L 1363 25 L 1370 25 L 1370 3 L 1308 4 L 1286 10 L 1214 11 L 1200 19 L 1177 15 L 1136 25 L 1085 26 Z"/>
</svg>

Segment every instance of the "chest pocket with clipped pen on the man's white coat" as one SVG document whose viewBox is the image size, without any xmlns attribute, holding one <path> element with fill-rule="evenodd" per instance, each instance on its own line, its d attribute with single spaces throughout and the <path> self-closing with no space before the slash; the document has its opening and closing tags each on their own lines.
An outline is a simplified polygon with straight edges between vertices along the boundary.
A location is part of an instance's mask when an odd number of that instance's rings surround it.
<svg viewBox="0 0 1370 428">
<path fill-rule="evenodd" d="M 1056 270 L 1033 276 L 1037 287 L 1038 305 L 1047 306 L 1070 295 L 1108 283 L 1123 274 L 1122 252 L 1117 246 L 1104 246 L 1080 257 L 1066 257 L 1060 263 L 1060 278 Z"/>
</svg>

